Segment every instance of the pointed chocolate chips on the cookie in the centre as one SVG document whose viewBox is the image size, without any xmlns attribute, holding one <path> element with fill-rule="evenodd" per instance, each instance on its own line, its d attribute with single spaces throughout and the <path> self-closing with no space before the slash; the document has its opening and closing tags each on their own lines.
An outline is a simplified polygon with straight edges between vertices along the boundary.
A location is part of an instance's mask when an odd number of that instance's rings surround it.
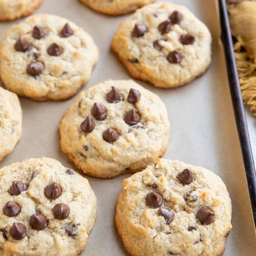
<svg viewBox="0 0 256 256">
<path fill-rule="evenodd" d="M 128 102 L 134 104 L 140 100 L 140 97 L 140 92 L 131 88 L 127 96 L 127 100 Z M 109 103 L 118 103 L 119 101 L 123 100 L 123 96 L 118 92 L 116 87 L 112 86 L 111 91 L 106 94 L 106 100 Z M 79 107 L 80 106 L 81 102 L 79 102 Z M 91 109 L 91 114 L 96 120 L 102 121 L 106 119 L 107 111 L 103 105 L 95 102 L 93 108 Z M 136 125 L 140 122 L 140 114 L 138 113 L 138 111 L 136 111 L 135 108 L 133 108 L 125 114 L 124 121 L 128 125 Z M 83 132 L 88 133 L 93 131 L 95 126 L 96 124 L 91 116 L 87 116 L 85 120 L 81 123 L 80 128 Z M 145 127 L 143 129 L 145 129 Z M 118 139 L 118 132 L 114 128 L 106 129 L 102 134 L 102 138 L 106 142 L 114 143 Z M 88 146 L 85 146 L 85 151 L 88 151 L 88 149 Z M 80 155 L 86 158 L 86 156 L 82 153 Z"/>
</svg>

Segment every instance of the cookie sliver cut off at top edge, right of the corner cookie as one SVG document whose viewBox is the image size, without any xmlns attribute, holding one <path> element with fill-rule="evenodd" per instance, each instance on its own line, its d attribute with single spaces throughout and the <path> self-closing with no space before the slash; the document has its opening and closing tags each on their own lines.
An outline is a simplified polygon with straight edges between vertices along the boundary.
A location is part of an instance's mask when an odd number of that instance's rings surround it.
<svg viewBox="0 0 256 256">
<path fill-rule="evenodd" d="M 156 0 L 81 0 L 96 12 L 101 12 L 109 15 L 123 15 L 134 12 L 142 6 L 153 3 Z"/>
</svg>

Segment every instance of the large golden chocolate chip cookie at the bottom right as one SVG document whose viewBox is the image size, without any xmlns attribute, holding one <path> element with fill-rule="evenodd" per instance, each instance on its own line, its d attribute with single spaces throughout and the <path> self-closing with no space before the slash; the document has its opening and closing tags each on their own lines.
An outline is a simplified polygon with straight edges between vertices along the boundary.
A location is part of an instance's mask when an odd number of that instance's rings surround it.
<svg viewBox="0 0 256 256">
<path fill-rule="evenodd" d="M 132 256 L 219 256 L 232 228 L 231 212 L 216 174 L 158 159 L 124 180 L 115 224 Z"/>
</svg>

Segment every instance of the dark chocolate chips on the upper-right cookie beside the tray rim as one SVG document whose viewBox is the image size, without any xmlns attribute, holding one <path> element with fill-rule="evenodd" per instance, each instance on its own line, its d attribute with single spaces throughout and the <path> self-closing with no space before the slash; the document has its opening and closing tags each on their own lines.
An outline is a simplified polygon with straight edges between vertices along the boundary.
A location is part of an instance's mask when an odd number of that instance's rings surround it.
<svg viewBox="0 0 256 256">
<path fill-rule="evenodd" d="M 157 17 L 158 15 L 155 14 L 155 16 Z M 171 31 L 172 25 L 179 24 L 182 19 L 183 19 L 182 14 L 178 11 L 174 11 L 167 20 L 165 20 L 164 22 L 158 25 L 158 30 L 161 32 L 162 35 L 169 33 Z M 132 37 L 139 38 L 139 37 L 143 37 L 144 34 L 147 32 L 148 32 L 147 26 L 143 24 L 135 24 L 131 34 L 132 34 Z M 165 38 L 161 38 L 153 42 L 153 47 L 155 49 L 158 49 L 159 51 L 161 51 L 162 48 L 164 48 L 164 46 L 160 44 L 161 40 L 167 41 Z M 192 34 L 182 34 L 180 37 L 180 42 L 184 45 L 193 44 L 194 41 L 195 41 L 195 36 Z M 170 63 L 180 63 L 182 60 L 182 55 L 179 51 L 174 50 L 172 52 L 169 52 L 166 58 Z M 137 58 L 129 59 L 129 61 L 132 63 L 139 63 L 139 60 Z"/>
</svg>

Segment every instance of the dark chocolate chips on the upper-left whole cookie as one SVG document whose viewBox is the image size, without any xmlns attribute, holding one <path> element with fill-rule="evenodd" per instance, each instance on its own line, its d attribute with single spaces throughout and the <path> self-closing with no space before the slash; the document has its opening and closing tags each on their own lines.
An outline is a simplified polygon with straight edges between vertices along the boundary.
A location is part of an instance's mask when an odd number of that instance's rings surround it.
<svg viewBox="0 0 256 256">
<path fill-rule="evenodd" d="M 65 26 L 60 31 L 59 35 L 60 37 L 70 37 L 70 35 L 73 34 L 73 30 L 70 28 L 69 24 L 66 23 Z M 40 40 L 46 36 L 46 31 L 36 25 L 33 28 L 32 31 L 32 37 L 34 39 Z M 29 43 L 26 39 L 23 39 L 22 37 L 19 37 L 19 39 L 16 41 L 14 48 L 18 52 L 26 52 L 29 49 Z M 63 53 L 63 48 L 59 46 L 56 43 L 52 43 L 47 48 L 47 53 L 51 56 L 59 56 Z M 34 53 L 35 61 L 32 61 L 27 66 L 27 73 L 33 76 L 39 75 L 43 71 L 43 64 L 39 61 L 37 61 L 38 57 L 40 56 L 40 53 Z"/>
</svg>

